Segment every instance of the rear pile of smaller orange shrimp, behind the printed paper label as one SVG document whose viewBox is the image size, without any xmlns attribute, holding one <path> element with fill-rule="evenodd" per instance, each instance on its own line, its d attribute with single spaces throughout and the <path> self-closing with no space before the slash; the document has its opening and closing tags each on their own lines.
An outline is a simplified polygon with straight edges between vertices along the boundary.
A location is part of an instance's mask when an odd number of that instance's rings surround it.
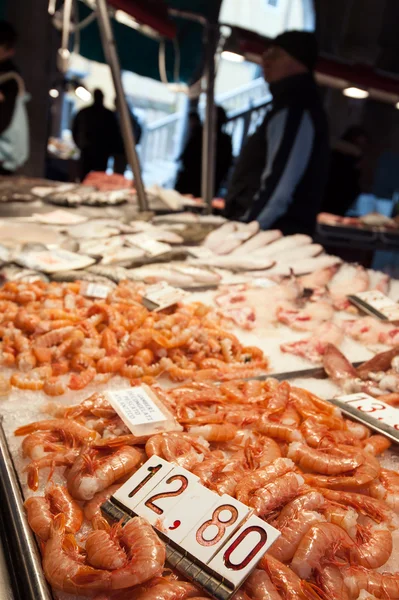
<svg viewBox="0 0 399 600">
<path fill-rule="evenodd" d="M 14 386 L 60 396 L 114 375 L 228 380 L 267 371 L 263 352 L 243 347 L 200 303 L 150 312 L 135 283 L 120 283 L 105 300 L 81 289 L 80 282 L 41 281 L 0 289 L 0 365 L 14 369 L 0 376 L 0 395 Z"/>
</svg>

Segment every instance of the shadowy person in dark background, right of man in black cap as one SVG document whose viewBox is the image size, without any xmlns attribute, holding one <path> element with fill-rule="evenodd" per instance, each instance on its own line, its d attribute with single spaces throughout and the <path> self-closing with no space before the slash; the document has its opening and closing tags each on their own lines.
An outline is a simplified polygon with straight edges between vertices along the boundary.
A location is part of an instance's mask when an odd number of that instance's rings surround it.
<svg viewBox="0 0 399 600">
<path fill-rule="evenodd" d="M 361 166 L 368 141 L 363 127 L 353 125 L 332 148 L 322 212 L 344 216 L 361 193 Z"/>
</svg>

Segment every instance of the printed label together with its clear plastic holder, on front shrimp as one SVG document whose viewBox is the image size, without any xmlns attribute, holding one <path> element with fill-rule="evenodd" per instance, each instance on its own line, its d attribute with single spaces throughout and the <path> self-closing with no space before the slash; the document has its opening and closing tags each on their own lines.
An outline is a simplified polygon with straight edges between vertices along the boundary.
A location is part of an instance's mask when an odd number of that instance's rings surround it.
<svg viewBox="0 0 399 600">
<path fill-rule="evenodd" d="M 108 402 L 137 436 L 163 431 L 182 431 L 172 413 L 145 384 L 105 392 Z"/>
</svg>

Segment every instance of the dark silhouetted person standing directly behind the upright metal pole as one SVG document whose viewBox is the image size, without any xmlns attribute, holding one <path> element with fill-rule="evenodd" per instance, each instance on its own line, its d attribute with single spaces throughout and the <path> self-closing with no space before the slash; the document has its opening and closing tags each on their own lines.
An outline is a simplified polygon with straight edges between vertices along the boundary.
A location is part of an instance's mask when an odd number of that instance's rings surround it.
<svg viewBox="0 0 399 600">
<path fill-rule="evenodd" d="M 215 193 L 218 192 L 225 180 L 233 158 L 231 137 L 223 131 L 227 122 L 226 112 L 221 106 L 216 107 L 216 111 Z M 181 170 L 175 189 L 181 194 L 191 194 L 195 198 L 201 196 L 202 131 L 198 113 L 190 113 L 189 134 L 180 157 Z"/>
</svg>

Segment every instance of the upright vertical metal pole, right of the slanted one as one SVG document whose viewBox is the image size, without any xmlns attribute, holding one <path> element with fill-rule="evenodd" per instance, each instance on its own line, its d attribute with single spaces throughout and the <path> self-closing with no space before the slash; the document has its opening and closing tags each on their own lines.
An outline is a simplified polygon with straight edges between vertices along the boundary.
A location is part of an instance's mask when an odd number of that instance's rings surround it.
<svg viewBox="0 0 399 600">
<path fill-rule="evenodd" d="M 215 52 L 217 48 L 219 28 L 209 23 L 205 30 L 205 84 L 206 110 L 202 138 L 202 199 L 211 211 L 215 188 L 215 142 L 216 142 L 216 111 L 215 111 Z"/>
</svg>

